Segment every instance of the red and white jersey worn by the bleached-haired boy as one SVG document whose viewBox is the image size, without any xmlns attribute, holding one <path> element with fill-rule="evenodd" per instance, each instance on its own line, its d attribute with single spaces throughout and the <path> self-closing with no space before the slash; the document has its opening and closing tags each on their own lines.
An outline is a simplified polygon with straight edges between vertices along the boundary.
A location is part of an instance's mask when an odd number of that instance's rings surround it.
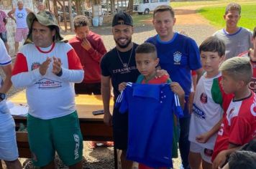
<svg viewBox="0 0 256 169">
<path fill-rule="evenodd" d="M 244 100 L 230 102 L 224 114 L 221 128 L 214 145 L 213 161 L 222 150 L 227 150 L 229 143 L 244 145 L 256 136 L 256 94 Z"/>
</svg>

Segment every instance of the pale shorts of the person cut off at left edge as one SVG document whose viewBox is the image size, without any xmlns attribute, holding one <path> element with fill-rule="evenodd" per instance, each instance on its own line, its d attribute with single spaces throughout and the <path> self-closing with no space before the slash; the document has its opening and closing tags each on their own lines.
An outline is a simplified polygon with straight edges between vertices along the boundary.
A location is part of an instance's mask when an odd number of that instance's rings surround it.
<svg viewBox="0 0 256 169">
<path fill-rule="evenodd" d="M 3 100 L 5 101 L 5 100 Z M 1 101 L 1 102 L 3 102 Z M 15 122 L 9 111 L 6 111 L 5 102 L 0 102 L 0 159 L 6 161 L 17 160 L 19 157 Z"/>
</svg>

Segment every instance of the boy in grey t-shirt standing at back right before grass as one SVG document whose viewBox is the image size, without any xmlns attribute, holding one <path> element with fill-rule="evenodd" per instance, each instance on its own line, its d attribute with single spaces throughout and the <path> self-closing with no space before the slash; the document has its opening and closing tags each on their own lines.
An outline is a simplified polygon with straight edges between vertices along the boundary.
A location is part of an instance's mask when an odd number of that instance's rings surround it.
<svg viewBox="0 0 256 169">
<path fill-rule="evenodd" d="M 224 20 L 226 28 L 214 33 L 215 37 L 223 40 L 226 45 L 226 59 L 237 57 L 241 52 L 252 47 L 252 32 L 249 29 L 237 26 L 241 18 L 241 6 L 237 3 L 230 3 L 226 7 Z"/>
</svg>

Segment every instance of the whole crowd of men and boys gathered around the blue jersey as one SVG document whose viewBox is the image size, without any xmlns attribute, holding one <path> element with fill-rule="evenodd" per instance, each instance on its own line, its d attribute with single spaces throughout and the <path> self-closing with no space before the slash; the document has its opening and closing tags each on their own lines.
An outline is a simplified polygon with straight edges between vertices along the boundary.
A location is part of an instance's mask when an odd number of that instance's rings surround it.
<svg viewBox="0 0 256 169">
<path fill-rule="evenodd" d="M 0 64 L 6 74 L 0 87 L 0 159 L 7 168 L 22 168 L 6 107 L 12 84 L 26 88 L 29 148 L 37 167 L 55 168 L 57 152 L 69 168 L 83 168 L 75 95 L 87 94 L 102 95 L 104 122 L 113 127 L 123 169 L 134 161 L 140 169 L 173 168 L 178 150 L 180 168 L 256 168 L 256 27 L 251 32 L 237 25 L 239 4 L 227 5 L 226 27 L 199 47 L 174 32 L 171 6 L 157 6 L 157 34 L 143 44 L 132 41 L 132 16 L 119 11 L 111 25 L 116 46 L 109 52 L 86 16 L 73 19 L 76 37 L 69 41 L 43 5 L 35 14 L 18 1 L 8 16 L 17 23 L 17 57 L 12 68 L 6 14 L 0 12 Z"/>
</svg>

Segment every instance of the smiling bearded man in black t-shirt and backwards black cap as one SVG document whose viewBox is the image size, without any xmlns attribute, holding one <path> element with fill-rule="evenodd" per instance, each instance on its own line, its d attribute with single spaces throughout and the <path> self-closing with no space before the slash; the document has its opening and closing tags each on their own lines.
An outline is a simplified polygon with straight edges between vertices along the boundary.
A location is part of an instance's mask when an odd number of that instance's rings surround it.
<svg viewBox="0 0 256 169">
<path fill-rule="evenodd" d="M 101 94 L 104 102 L 104 122 L 112 125 L 112 115 L 109 111 L 110 79 L 114 88 L 114 102 L 120 94 L 118 85 L 122 82 L 136 82 L 139 72 L 135 63 L 135 49 L 138 44 L 132 42 L 133 21 L 129 14 L 123 11 L 114 15 L 112 33 L 116 47 L 107 52 L 101 59 Z M 114 146 L 122 150 L 122 168 L 132 168 L 132 161 L 126 160 L 128 140 L 128 115 L 113 110 Z"/>
</svg>

